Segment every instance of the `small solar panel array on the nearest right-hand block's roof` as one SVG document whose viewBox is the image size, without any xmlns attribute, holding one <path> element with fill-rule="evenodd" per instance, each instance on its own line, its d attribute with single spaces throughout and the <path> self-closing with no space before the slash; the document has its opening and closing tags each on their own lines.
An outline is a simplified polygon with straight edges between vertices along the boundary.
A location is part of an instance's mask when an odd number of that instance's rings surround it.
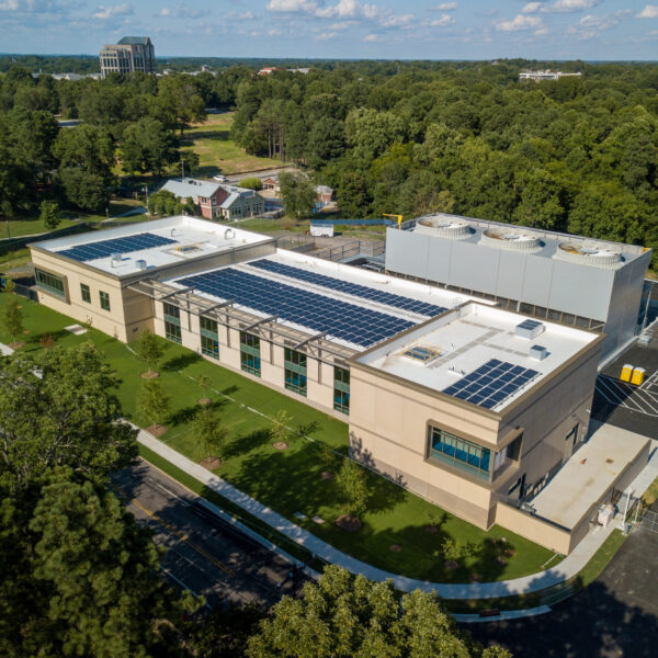
<svg viewBox="0 0 658 658">
<path fill-rule="evenodd" d="M 443 389 L 461 400 L 485 409 L 500 405 L 540 373 L 534 370 L 491 359 L 456 384 Z"/>
</svg>

